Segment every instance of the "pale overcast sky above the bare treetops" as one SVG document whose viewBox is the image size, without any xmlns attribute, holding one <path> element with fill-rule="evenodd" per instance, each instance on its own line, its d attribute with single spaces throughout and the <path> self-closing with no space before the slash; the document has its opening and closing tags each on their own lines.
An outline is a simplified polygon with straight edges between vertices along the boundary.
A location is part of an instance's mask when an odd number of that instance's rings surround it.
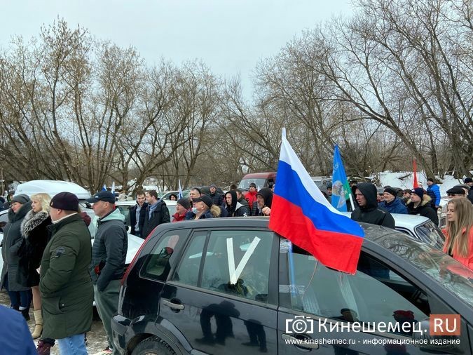
<svg viewBox="0 0 473 355">
<path fill-rule="evenodd" d="M 195 58 L 226 78 L 240 75 L 246 95 L 261 58 L 331 15 L 351 14 L 349 0 L 2 0 L 0 46 L 29 39 L 59 16 L 99 39 L 134 46 L 149 65 Z"/>
</svg>

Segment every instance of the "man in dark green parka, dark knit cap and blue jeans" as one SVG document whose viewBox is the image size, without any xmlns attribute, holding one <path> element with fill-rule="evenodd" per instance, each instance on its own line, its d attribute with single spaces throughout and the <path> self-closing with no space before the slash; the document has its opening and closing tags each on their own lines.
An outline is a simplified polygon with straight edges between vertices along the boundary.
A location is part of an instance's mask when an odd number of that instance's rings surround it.
<svg viewBox="0 0 473 355">
<path fill-rule="evenodd" d="M 51 199 L 51 237 L 39 274 L 43 337 L 57 339 L 61 354 L 87 354 L 84 336 L 92 326 L 92 246 L 90 232 L 77 211 L 77 196 L 70 192 Z"/>
</svg>

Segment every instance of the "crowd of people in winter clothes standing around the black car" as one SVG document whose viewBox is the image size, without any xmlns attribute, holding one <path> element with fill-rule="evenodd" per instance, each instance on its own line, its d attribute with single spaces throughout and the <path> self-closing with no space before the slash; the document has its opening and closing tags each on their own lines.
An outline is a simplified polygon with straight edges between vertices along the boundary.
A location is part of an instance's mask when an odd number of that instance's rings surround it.
<svg viewBox="0 0 473 355">
<path fill-rule="evenodd" d="M 375 185 L 351 182 L 355 206 L 351 218 L 359 222 L 395 228 L 391 213 L 429 217 L 438 224 L 439 189 L 429 179 L 422 187 L 402 190 L 385 187 L 380 194 Z M 472 179 L 448 190 L 444 252 L 473 269 Z M 468 189 L 466 188 L 468 187 Z M 139 191 L 130 208 L 131 233 L 143 239 L 158 225 L 183 220 L 215 217 L 269 216 L 275 185 L 248 192 L 232 186 L 224 194 L 210 185 L 210 194 L 197 187 L 188 198 L 177 200 L 170 216 L 155 190 Z M 329 200 L 331 186 L 323 190 Z M 381 197 L 382 196 L 382 197 Z M 32 339 L 38 339 L 39 354 L 49 354 L 56 343 L 61 354 L 87 354 L 86 333 L 92 325 L 92 302 L 107 333 L 107 348 L 114 354 L 111 317 L 117 312 L 120 281 L 125 269 L 128 236 L 125 217 L 116 208 L 116 196 L 101 191 L 87 200 L 97 219 L 93 246 L 88 225 L 90 217 L 81 211 L 77 196 L 69 192 L 11 196 L 8 224 L 4 227 L 0 289 L 5 288 L 11 308 L 29 319 L 34 307 Z M 12 318 L 13 319 L 13 318 Z M 74 352 L 75 351 L 75 352 Z"/>
</svg>

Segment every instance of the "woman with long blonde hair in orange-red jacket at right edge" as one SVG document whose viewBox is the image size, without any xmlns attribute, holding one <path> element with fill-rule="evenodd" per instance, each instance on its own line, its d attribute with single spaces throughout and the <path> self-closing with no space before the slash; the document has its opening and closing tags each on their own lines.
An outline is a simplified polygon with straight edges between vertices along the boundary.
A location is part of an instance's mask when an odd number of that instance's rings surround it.
<svg viewBox="0 0 473 355">
<path fill-rule="evenodd" d="M 473 205 L 452 199 L 447 205 L 444 253 L 473 270 Z"/>
</svg>

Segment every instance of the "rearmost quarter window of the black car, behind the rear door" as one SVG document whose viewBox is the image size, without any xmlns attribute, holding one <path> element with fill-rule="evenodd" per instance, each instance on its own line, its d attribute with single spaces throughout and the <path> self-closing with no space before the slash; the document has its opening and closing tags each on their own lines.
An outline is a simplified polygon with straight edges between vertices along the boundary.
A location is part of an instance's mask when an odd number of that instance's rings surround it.
<svg viewBox="0 0 473 355">
<path fill-rule="evenodd" d="M 140 276 L 165 281 L 169 274 L 172 264 L 174 264 L 179 247 L 187 231 L 169 231 L 160 238 L 153 251 L 148 255 L 144 262 Z"/>
</svg>

